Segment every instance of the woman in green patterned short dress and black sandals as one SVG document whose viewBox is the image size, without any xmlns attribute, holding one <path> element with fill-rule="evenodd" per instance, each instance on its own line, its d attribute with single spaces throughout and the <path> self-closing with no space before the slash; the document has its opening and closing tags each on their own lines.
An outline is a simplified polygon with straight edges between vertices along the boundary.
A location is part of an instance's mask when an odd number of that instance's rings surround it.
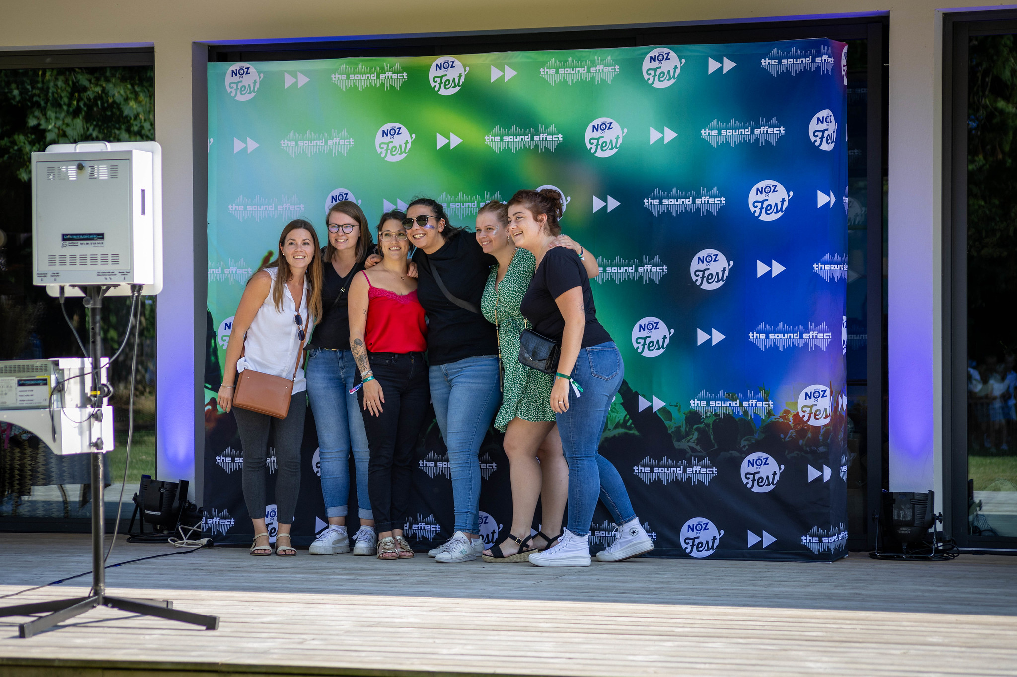
<svg viewBox="0 0 1017 677">
<path fill-rule="evenodd" d="M 503 369 L 501 408 L 494 425 L 505 433 L 504 450 L 512 477 L 513 526 L 508 538 L 484 551 L 484 561 L 527 561 L 535 549 L 550 545 L 561 530 L 569 497 L 569 465 L 550 406 L 553 378 L 519 361 L 519 335 L 526 328 L 520 313 L 523 294 L 536 270 L 536 259 L 508 238 L 505 205 L 492 201 L 477 214 L 477 241 L 498 260 L 484 287 L 481 311 L 497 325 Z M 590 277 L 599 272 L 596 258 L 558 235 L 553 247 L 567 247 L 583 259 Z M 541 499 L 541 531 L 531 541 L 530 525 Z M 546 533 L 545 533 L 546 532 Z"/>
</svg>

